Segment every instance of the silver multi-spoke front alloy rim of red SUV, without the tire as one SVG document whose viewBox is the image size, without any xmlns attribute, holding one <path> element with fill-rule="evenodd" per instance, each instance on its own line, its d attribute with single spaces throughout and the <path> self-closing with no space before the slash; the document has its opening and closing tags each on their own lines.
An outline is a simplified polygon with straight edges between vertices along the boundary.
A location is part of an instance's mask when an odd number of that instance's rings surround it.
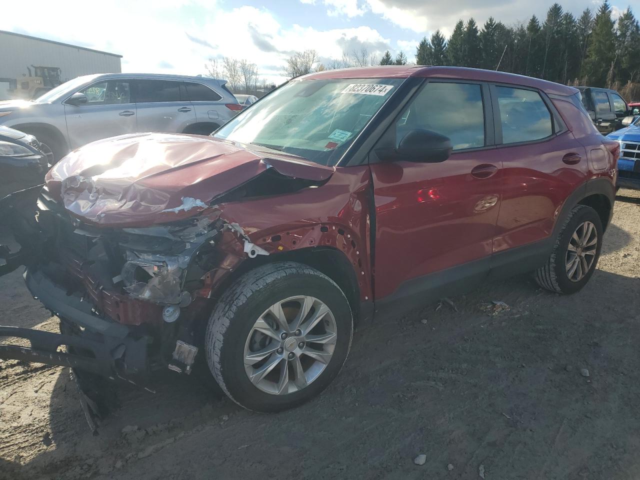
<svg viewBox="0 0 640 480">
<path fill-rule="evenodd" d="M 253 324 L 244 345 L 244 371 L 268 394 L 297 392 L 324 371 L 336 340 L 335 317 L 323 301 L 312 296 L 286 298 Z"/>
</svg>

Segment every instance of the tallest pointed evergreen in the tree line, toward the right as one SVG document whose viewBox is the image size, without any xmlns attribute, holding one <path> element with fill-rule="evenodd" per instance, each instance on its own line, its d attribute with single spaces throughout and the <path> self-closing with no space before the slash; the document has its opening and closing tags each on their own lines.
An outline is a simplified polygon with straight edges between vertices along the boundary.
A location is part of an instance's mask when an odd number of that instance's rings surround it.
<svg viewBox="0 0 640 480">
<path fill-rule="evenodd" d="M 584 62 L 586 77 L 590 86 L 604 87 L 611 81 L 612 65 L 616 60 L 616 36 L 611 20 L 611 6 L 605 0 L 593 22 L 593 31 Z"/>
</svg>

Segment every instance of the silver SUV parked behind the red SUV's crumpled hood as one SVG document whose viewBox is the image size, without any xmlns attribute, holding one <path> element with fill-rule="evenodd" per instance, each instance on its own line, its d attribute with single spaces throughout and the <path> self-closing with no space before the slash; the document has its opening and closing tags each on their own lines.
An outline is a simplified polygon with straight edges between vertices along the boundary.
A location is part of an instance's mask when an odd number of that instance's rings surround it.
<svg viewBox="0 0 640 480">
<path fill-rule="evenodd" d="M 224 80 L 154 74 L 77 77 L 35 100 L 0 102 L 0 125 L 35 135 L 55 161 L 131 132 L 208 135 L 242 107 Z"/>
</svg>

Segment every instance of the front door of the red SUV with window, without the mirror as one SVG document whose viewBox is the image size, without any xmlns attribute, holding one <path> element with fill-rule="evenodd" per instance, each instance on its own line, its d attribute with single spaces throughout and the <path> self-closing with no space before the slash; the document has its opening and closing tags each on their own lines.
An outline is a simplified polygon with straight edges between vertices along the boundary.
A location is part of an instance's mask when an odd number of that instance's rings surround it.
<svg viewBox="0 0 640 480">
<path fill-rule="evenodd" d="M 486 275 L 502 177 L 490 109 L 487 86 L 429 81 L 381 139 L 397 147 L 422 129 L 448 136 L 453 150 L 442 163 L 371 163 L 376 300 Z"/>
</svg>

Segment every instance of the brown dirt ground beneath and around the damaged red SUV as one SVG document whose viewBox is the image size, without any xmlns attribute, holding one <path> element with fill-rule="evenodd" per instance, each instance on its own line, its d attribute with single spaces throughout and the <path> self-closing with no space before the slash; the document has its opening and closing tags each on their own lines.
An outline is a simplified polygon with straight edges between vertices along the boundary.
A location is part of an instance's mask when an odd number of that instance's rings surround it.
<svg viewBox="0 0 640 480">
<path fill-rule="evenodd" d="M 166 372 L 156 394 L 118 387 L 92 436 L 67 369 L 0 360 L 0 478 L 637 479 L 640 195 L 621 193 L 579 294 L 523 276 L 452 298 L 458 312 L 378 321 L 291 412 L 247 412 L 207 372 Z M 57 329 L 18 272 L 0 278 L 0 323 Z"/>
</svg>

